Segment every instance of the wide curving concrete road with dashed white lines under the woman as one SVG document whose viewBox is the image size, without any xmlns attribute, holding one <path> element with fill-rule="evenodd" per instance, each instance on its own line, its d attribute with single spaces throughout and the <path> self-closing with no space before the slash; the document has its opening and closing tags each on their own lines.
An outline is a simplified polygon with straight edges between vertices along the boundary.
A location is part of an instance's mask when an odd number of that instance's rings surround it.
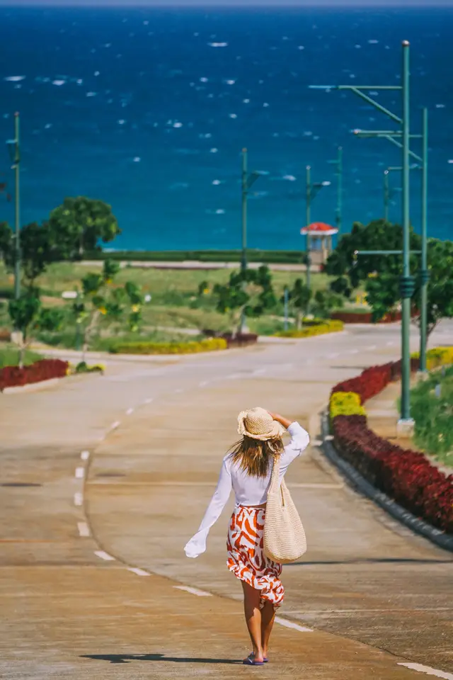
<svg viewBox="0 0 453 680">
<path fill-rule="evenodd" d="M 451 342 L 451 327 L 441 331 Z M 182 552 L 236 413 L 258 403 L 316 435 L 334 382 L 397 355 L 397 327 L 356 328 L 215 356 L 111 360 L 103 378 L 1 397 L 0 677 L 110 679 L 122 663 L 132 680 L 248 675 L 233 666 L 247 648 L 224 566 L 227 514 L 205 555 Z M 285 567 L 277 675 L 420 677 L 398 665 L 411 663 L 452 672 L 452 556 L 345 487 L 316 445 L 289 482 L 309 553 Z"/>
</svg>

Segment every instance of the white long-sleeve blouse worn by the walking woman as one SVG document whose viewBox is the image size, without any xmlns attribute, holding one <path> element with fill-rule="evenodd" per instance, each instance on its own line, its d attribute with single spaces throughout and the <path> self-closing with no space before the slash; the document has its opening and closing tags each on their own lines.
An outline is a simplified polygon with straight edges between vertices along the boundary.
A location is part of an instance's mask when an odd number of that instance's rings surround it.
<svg viewBox="0 0 453 680">
<path fill-rule="evenodd" d="M 310 441 L 308 432 L 297 422 L 289 425 L 288 432 L 291 435 L 291 441 L 280 455 L 280 482 L 285 476 L 289 464 L 306 449 Z M 246 470 L 241 470 L 238 463 L 233 463 L 231 453 L 227 454 L 223 460 L 222 470 L 220 470 L 217 488 L 207 506 L 200 528 L 185 545 L 185 554 L 188 557 L 198 557 L 205 552 L 207 535 L 212 525 L 222 514 L 231 489 L 234 490 L 236 505 L 262 505 L 268 497 L 271 475 L 272 466 L 270 466 L 266 477 L 248 475 Z"/>
</svg>

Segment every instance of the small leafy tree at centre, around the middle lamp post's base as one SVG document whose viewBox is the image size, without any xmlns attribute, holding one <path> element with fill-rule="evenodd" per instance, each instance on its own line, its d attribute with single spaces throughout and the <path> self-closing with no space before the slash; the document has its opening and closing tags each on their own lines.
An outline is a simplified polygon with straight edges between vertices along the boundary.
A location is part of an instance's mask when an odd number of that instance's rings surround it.
<svg viewBox="0 0 453 680">
<path fill-rule="evenodd" d="M 214 285 L 214 295 L 217 295 L 217 311 L 229 313 L 234 335 L 241 331 L 243 313 L 247 317 L 259 317 L 277 302 L 267 266 L 232 272 L 228 283 Z"/>
</svg>

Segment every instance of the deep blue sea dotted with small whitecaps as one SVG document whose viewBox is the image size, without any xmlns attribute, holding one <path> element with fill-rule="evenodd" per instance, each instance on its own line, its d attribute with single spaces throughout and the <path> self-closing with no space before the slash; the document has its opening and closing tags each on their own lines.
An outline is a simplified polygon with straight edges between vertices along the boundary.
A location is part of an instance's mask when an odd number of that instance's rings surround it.
<svg viewBox="0 0 453 680">
<path fill-rule="evenodd" d="M 21 113 L 22 221 L 65 196 L 113 206 L 115 248 L 241 244 L 241 149 L 265 171 L 249 201 L 251 247 L 303 247 L 305 166 L 331 181 L 312 219 L 333 223 L 344 149 L 344 229 L 383 215 L 382 176 L 401 154 L 354 128 L 391 120 L 345 91 L 309 84 L 399 84 L 411 41 L 412 131 L 430 110 L 430 235 L 452 237 L 453 8 L 0 8 L 0 139 Z M 398 91 L 374 95 L 401 111 Z M 418 152 L 420 140 L 413 140 Z M 0 182 L 11 183 L 6 145 Z M 420 172 L 411 173 L 420 226 Z M 391 174 L 391 219 L 401 215 Z M 0 220 L 13 204 L 0 194 Z"/>
</svg>

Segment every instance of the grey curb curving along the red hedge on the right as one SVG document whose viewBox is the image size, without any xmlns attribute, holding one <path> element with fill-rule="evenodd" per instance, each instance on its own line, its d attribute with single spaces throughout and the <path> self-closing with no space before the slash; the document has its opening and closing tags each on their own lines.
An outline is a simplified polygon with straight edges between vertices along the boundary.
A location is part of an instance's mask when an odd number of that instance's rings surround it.
<svg viewBox="0 0 453 680">
<path fill-rule="evenodd" d="M 411 512 L 402 508 L 401 505 L 398 505 L 389 496 L 384 494 L 384 492 L 378 491 L 378 489 L 365 480 L 365 477 L 360 475 L 360 472 L 357 472 L 355 467 L 338 455 L 331 441 L 326 440 L 326 437 L 329 435 L 326 412 L 323 412 L 321 416 L 321 432 L 323 437 L 323 445 L 321 448 L 324 455 L 326 455 L 326 458 L 328 458 L 328 460 L 333 463 L 333 465 L 335 465 L 350 482 L 352 482 L 352 485 L 354 485 L 362 494 L 374 501 L 374 503 L 379 505 L 379 507 L 388 512 L 394 519 L 397 519 L 415 533 L 420 534 L 420 536 L 428 538 L 428 540 L 435 543 L 439 548 L 449 550 L 450 553 L 453 553 L 452 535 L 448 535 L 445 532 L 440 531 L 440 529 L 436 529 L 431 524 L 428 524 L 428 522 L 415 517 Z"/>
</svg>

